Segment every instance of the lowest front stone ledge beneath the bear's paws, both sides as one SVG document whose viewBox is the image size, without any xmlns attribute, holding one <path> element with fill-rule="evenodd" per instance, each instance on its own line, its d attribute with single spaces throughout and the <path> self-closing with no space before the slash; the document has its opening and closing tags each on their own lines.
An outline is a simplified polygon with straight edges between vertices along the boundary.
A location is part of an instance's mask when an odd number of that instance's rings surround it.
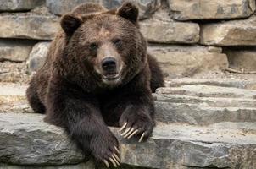
<svg viewBox="0 0 256 169">
<path fill-rule="evenodd" d="M 34 113 L 0 113 L 2 163 L 17 169 L 24 168 L 19 165 L 96 168 L 92 162 L 85 163 L 81 151 L 61 128 L 44 123 L 43 117 Z M 256 123 L 217 123 L 208 127 L 159 123 L 145 143 L 121 139 L 117 128 L 111 130 L 120 140 L 121 163 L 130 166 L 127 168 L 256 167 Z"/>
</svg>

